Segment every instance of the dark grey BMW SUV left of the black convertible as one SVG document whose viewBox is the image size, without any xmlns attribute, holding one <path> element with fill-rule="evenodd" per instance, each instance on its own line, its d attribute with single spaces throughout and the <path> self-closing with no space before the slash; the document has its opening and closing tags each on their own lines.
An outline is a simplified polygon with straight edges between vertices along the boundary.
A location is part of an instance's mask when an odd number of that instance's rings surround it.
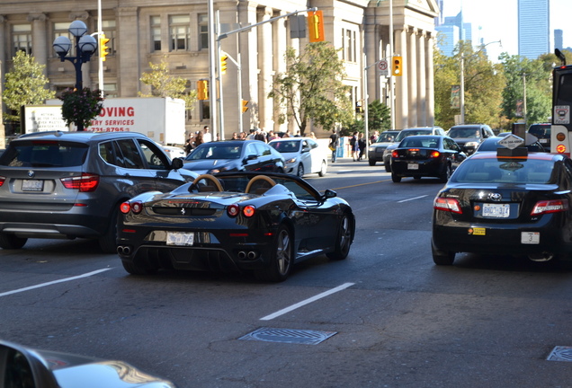
<svg viewBox="0 0 572 388">
<path fill-rule="evenodd" d="M 22 135 L 0 156 L 0 247 L 85 237 L 115 252 L 119 204 L 197 177 L 182 167 L 136 132 Z"/>
</svg>

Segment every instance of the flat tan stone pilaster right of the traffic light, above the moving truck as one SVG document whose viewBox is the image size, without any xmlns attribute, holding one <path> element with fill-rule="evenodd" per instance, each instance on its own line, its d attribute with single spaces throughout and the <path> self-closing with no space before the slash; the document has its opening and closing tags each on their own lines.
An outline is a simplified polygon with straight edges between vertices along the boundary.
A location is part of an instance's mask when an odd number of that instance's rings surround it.
<svg viewBox="0 0 572 388">
<path fill-rule="evenodd" d="M 134 42 L 139 37 L 138 7 L 117 9 L 117 81 L 119 95 L 136 96 L 139 92 L 139 45 Z M 212 109 L 212 108 L 211 108 Z M 214 112 L 211 112 L 213 114 Z"/>
</svg>

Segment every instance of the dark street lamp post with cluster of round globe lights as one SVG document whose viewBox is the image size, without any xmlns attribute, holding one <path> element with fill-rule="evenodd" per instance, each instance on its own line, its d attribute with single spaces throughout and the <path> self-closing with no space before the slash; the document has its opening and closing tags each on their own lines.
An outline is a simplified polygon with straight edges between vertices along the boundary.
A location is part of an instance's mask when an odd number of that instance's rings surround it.
<svg viewBox="0 0 572 388">
<path fill-rule="evenodd" d="M 76 91 L 81 93 L 84 89 L 82 65 L 85 64 L 85 62 L 89 62 L 89 59 L 95 50 L 97 50 L 97 40 L 91 35 L 86 35 L 87 26 L 85 22 L 82 21 L 71 22 L 67 31 L 69 31 L 76 40 L 76 57 L 66 57 L 69 49 L 72 47 L 71 40 L 69 40 L 67 36 L 58 36 L 52 46 L 62 62 L 68 60 L 74 65 L 76 69 Z M 84 130 L 83 122 L 76 122 L 76 125 L 78 131 Z"/>
</svg>

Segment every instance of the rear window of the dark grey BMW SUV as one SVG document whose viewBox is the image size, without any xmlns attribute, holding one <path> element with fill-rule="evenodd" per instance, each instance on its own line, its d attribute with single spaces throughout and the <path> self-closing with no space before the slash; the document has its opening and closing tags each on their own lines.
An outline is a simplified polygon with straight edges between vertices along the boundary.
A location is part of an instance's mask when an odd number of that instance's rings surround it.
<svg viewBox="0 0 572 388">
<path fill-rule="evenodd" d="M 13 141 L 0 156 L 11 167 L 72 167 L 82 165 L 88 146 L 58 140 Z"/>
</svg>

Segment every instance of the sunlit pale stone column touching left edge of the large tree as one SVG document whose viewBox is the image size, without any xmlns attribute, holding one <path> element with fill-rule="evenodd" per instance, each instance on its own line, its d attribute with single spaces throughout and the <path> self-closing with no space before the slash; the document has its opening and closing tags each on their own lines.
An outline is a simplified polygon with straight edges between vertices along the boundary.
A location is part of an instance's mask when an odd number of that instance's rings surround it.
<svg viewBox="0 0 572 388">
<path fill-rule="evenodd" d="M 259 22 L 265 22 L 273 17 L 270 7 L 259 10 Z M 270 130 L 274 128 L 273 101 L 267 98 L 273 88 L 273 23 L 264 23 L 258 26 L 258 68 L 260 69 L 260 88 L 258 95 L 260 128 Z"/>
</svg>

